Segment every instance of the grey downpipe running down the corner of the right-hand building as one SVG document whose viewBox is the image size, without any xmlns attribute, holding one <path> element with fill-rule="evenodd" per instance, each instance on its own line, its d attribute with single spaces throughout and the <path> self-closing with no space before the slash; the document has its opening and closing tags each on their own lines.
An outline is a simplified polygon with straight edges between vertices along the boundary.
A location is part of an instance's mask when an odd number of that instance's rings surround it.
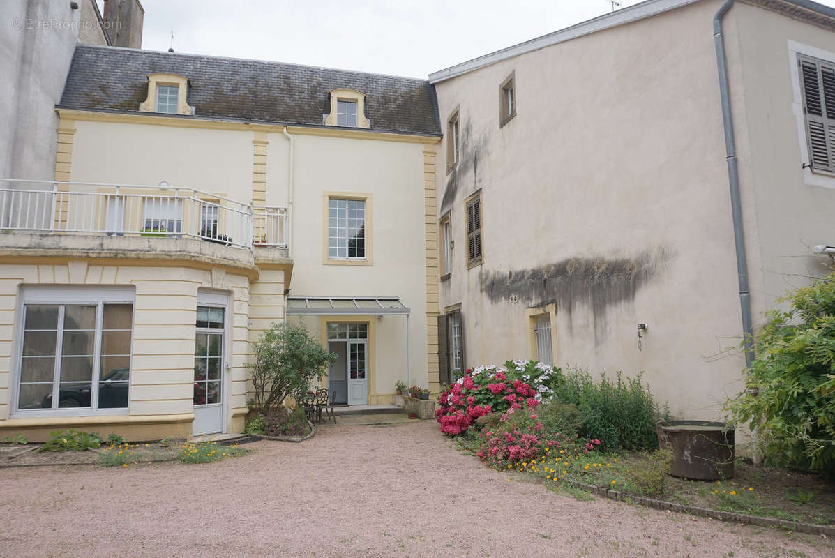
<svg viewBox="0 0 835 558">
<path fill-rule="evenodd" d="M 751 292 L 748 289 L 748 263 L 745 255 L 745 234 L 742 231 L 742 209 L 739 195 L 739 173 L 736 167 L 736 141 L 731 117 L 731 88 L 728 85 L 728 68 L 725 56 L 725 38 L 722 36 L 722 18 L 733 6 L 734 0 L 726 0 L 713 17 L 713 40 L 716 43 L 716 65 L 719 70 L 719 95 L 722 105 L 722 124 L 725 128 L 725 151 L 728 166 L 728 182 L 731 186 L 731 214 L 733 216 L 733 240 L 736 246 L 736 274 L 739 279 L 739 305 L 742 312 L 742 330 L 745 336 L 745 366 L 751 368 L 754 360 L 754 337 L 751 327 Z"/>
</svg>

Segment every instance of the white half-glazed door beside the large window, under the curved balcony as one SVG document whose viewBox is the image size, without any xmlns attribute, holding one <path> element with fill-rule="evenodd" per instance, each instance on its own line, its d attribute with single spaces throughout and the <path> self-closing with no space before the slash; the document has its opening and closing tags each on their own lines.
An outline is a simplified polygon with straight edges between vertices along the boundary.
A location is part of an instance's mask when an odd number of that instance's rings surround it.
<svg viewBox="0 0 835 558">
<path fill-rule="evenodd" d="M 225 314 L 225 307 L 197 307 L 192 428 L 195 436 L 223 432 Z"/>
</svg>

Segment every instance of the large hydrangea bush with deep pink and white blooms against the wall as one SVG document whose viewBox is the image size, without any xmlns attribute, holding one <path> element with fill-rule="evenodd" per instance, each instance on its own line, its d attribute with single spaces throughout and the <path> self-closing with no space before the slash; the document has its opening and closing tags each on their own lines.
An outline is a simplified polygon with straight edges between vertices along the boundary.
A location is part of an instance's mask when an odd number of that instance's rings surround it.
<svg viewBox="0 0 835 558">
<path fill-rule="evenodd" d="M 504 368 L 493 364 L 468 368 L 438 397 L 435 416 L 441 432 L 457 436 L 485 414 L 535 408 L 549 397 L 551 383 L 558 378 L 559 368 L 529 360 L 508 361 Z"/>
</svg>

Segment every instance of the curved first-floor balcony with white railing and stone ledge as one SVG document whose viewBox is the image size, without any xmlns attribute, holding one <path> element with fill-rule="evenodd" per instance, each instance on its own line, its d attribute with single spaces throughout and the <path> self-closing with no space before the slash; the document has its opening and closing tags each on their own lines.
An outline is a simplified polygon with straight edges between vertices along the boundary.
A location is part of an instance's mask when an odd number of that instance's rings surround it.
<svg viewBox="0 0 835 558">
<path fill-rule="evenodd" d="M 29 255 L 188 253 L 243 263 L 258 247 L 260 258 L 282 259 L 287 225 L 286 207 L 193 188 L 0 179 L 0 247 Z"/>
</svg>

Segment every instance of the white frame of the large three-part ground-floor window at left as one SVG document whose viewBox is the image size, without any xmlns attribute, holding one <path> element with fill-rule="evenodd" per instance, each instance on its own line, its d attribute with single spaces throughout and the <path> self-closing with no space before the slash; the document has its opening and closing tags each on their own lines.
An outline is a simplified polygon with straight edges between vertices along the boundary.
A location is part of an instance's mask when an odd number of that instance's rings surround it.
<svg viewBox="0 0 835 558">
<path fill-rule="evenodd" d="M 18 409 L 18 398 L 20 395 L 20 378 L 23 363 L 23 329 L 24 329 L 24 307 L 29 304 L 35 305 L 66 305 L 66 304 L 88 304 L 97 305 L 96 311 L 96 332 L 94 337 L 94 368 L 91 380 L 91 393 L 89 408 L 27 408 Z M 98 405 L 99 382 L 101 381 L 100 358 L 101 358 L 101 336 L 104 304 L 131 304 L 130 332 L 130 359 L 129 359 L 129 380 L 128 380 L 128 407 L 126 408 L 94 408 L 93 402 Z M 18 317 L 15 324 L 15 341 L 13 344 L 13 373 L 12 373 L 12 397 L 10 418 L 56 418 L 56 417 L 95 417 L 127 415 L 130 413 L 131 391 L 133 386 L 133 354 L 134 354 L 134 333 L 136 332 L 136 292 L 129 287 L 21 287 L 18 297 Z M 60 325 L 60 324 L 59 324 Z M 54 380 L 53 380 L 54 381 Z"/>
</svg>

